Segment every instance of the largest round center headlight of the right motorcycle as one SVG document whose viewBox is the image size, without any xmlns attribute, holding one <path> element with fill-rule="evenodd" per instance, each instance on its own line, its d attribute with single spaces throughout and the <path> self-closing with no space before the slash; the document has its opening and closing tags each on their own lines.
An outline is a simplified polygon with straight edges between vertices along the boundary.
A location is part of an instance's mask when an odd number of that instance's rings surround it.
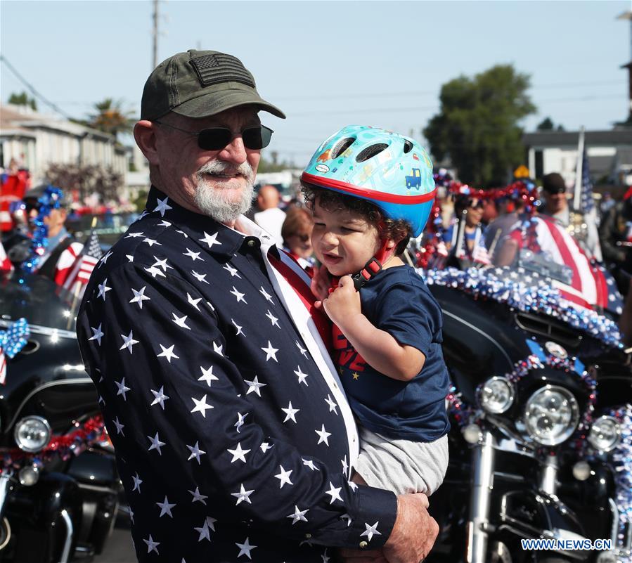
<svg viewBox="0 0 632 563">
<path fill-rule="evenodd" d="M 579 406 L 570 391 L 546 385 L 529 397 L 524 424 L 531 438 L 546 446 L 562 444 L 575 431 Z"/>
</svg>

